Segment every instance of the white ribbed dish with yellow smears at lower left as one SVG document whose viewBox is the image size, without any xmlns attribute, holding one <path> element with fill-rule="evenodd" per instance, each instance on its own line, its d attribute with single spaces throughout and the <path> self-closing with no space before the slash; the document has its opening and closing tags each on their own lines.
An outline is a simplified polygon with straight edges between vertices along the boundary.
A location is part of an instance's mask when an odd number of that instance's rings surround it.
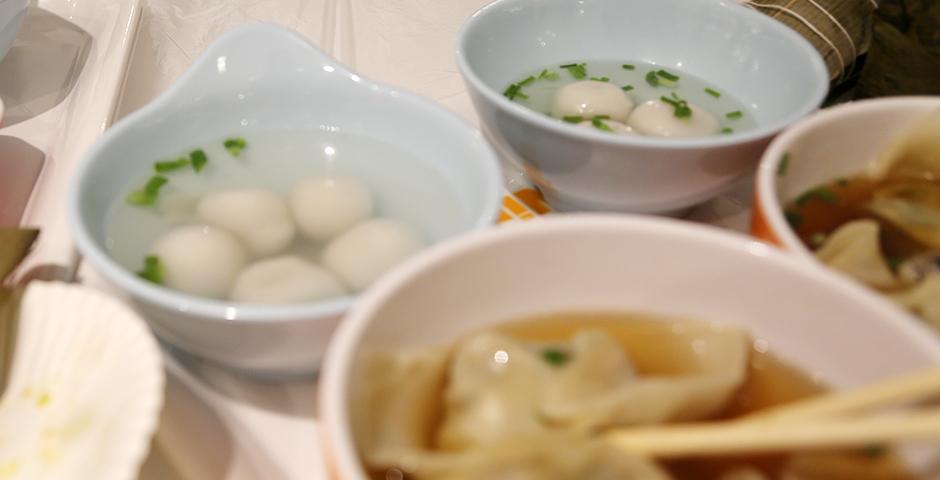
<svg viewBox="0 0 940 480">
<path fill-rule="evenodd" d="M 157 343 L 134 312 L 76 285 L 30 284 L 0 399 L 0 478 L 135 478 L 163 384 Z"/>
</svg>

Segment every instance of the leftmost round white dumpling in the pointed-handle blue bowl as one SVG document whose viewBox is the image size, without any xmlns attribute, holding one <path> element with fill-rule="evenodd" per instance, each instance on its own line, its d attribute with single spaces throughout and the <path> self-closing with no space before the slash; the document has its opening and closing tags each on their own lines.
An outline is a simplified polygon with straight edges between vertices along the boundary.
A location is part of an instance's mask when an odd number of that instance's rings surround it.
<svg viewBox="0 0 940 480">
<path fill-rule="evenodd" d="M 164 284 L 203 297 L 228 295 L 248 252 L 231 233 L 206 225 L 177 227 L 154 244 Z"/>
</svg>

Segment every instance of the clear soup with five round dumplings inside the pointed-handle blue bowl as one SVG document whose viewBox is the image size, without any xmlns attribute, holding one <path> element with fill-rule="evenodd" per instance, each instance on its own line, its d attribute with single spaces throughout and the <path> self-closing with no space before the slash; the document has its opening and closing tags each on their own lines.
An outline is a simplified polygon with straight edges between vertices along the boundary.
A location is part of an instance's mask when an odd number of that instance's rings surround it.
<svg viewBox="0 0 940 480">
<path fill-rule="evenodd" d="M 155 159 L 109 213 L 110 254 L 141 278 L 245 303 L 360 291 L 456 233 L 436 171 L 358 135 L 283 130 Z"/>
</svg>

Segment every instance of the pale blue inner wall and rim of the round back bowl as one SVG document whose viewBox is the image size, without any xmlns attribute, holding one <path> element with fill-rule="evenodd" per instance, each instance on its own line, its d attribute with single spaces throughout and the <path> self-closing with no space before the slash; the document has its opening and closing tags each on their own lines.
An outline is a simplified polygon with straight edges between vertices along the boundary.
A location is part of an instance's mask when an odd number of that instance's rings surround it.
<svg viewBox="0 0 940 480">
<path fill-rule="evenodd" d="M 757 138 L 814 110 L 828 89 L 825 66 L 808 42 L 730 0 L 500 0 L 464 25 L 457 58 L 471 88 L 497 108 L 541 129 L 624 144 L 681 148 Z M 746 105 L 757 127 L 696 139 L 615 137 L 571 128 L 502 95 L 529 72 L 602 60 L 693 74 Z"/>
</svg>

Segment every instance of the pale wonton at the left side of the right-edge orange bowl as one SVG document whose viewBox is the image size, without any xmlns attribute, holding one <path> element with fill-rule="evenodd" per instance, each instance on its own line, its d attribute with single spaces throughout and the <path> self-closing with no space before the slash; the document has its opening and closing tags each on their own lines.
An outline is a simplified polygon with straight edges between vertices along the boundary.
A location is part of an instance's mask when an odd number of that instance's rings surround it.
<svg viewBox="0 0 940 480">
<path fill-rule="evenodd" d="M 816 258 L 875 288 L 897 281 L 881 253 L 880 228 L 874 220 L 853 220 L 839 227 L 816 250 Z"/>
</svg>

